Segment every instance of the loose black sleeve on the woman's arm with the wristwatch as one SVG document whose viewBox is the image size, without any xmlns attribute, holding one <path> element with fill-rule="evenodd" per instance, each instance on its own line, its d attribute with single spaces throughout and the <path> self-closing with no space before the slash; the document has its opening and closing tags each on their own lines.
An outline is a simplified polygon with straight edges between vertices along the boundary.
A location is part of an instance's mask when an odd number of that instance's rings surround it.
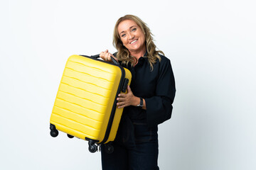
<svg viewBox="0 0 256 170">
<path fill-rule="evenodd" d="M 170 60 L 160 62 L 155 96 L 144 98 L 146 101 L 146 120 L 152 127 L 171 118 L 172 103 L 176 93 L 174 73 Z"/>
</svg>

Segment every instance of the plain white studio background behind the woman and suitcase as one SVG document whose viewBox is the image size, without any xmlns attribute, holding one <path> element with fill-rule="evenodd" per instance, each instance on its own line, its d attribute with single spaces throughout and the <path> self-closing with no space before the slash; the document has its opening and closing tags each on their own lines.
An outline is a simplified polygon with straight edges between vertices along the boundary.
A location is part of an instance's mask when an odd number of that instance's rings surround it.
<svg viewBox="0 0 256 170">
<path fill-rule="evenodd" d="M 100 169 L 100 153 L 49 119 L 70 55 L 112 46 L 142 18 L 171 60 L 176 98 L 159 125 L 160 169 L 256 169 L 256 12 L 251 0 L 0 2 L 0 169 Z"/>
</svg>

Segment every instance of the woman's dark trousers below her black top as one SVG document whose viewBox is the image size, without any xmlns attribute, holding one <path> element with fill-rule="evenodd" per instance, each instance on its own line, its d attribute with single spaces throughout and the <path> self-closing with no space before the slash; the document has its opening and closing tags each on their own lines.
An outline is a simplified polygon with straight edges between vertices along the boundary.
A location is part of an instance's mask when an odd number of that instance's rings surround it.
<svg viewBox="0 0 256 170">
<path fill-rule="evenodd" d="M 159 154 L 157 127 L 146 123 L 129 123 L 119 128 L 112 142 L 114 152 L 105 152 L 101 146 L 102 170 L 157 170 Z"/>
</svg>

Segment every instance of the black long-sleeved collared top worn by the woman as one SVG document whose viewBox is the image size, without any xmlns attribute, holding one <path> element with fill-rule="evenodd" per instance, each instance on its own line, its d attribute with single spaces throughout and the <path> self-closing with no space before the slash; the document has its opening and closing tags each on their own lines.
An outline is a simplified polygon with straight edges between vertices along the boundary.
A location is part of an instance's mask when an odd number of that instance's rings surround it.
<svg viewBox="0 0 256 170">
<path fill-rule="evenodd" d="M 132 122 L 146 121 L 149 127 L 159 125 L 171 118 L 172 103 L 176 93 L 174 73 L 171 62 L 167 57 L 159 55 L 159 60 L 154 64 L 151 71 L 148 58 L 140 57 L 135 67 L 123 65 L 132 73 L 131 89 L 134 96 L 142 97 L 146 101 L 146 110 L 128 106 L 124 108 L 124 115 L 127 115 Z"/>
</svg>

